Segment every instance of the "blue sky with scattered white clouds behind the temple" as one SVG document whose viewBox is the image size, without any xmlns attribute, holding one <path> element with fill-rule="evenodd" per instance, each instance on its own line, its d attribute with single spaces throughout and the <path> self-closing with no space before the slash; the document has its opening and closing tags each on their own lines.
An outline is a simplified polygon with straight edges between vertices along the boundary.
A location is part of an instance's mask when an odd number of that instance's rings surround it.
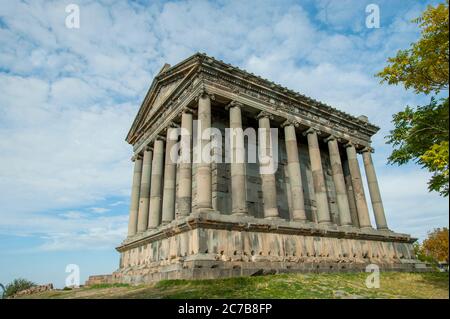
<svg viewBox="0 0 450 319">
<path fill-rule="evenodd" d="M 365 23 L 371 3 L 379 28 Z M 69 4 L 79 28 L 66 27 Z M 0 283 L 63 287 L 69 264 L 82 282 L 118 268 L 133 169 L 125 136 L 164 63 L 195 52 L 367 115 L 380 127 L 373 160 L 389 227 L 422 240 L 448 226 L 430 174 L 387 164 L 392 114 L 430 97 L 374 77 L 418 39 L 410 21 L 428 4 L 0 0 Z"/>
</svg>

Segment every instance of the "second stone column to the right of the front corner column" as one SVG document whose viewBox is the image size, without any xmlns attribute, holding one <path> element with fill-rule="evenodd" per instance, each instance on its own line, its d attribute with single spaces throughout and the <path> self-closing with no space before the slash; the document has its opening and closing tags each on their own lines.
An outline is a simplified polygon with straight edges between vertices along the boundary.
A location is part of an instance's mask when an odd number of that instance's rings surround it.
<svg viewBox="0 0 450 319">
<path fill-rule="evenodd" d="M 260 155 L 259 171 L 261 175 L 261 188 L 264 201 L 264 218 L 280 218 L 277 205 L 277 187 L 275 173 L 273 171 L 273 162 L 261 162 L 261 155 L 271 158 L 272 144 L 270 135 L 270 118 L 272 116 L 267 112 L 258 114 L 258 153 Z M 267 159 L 267 158 L 266 158 Z"/>
</svg>

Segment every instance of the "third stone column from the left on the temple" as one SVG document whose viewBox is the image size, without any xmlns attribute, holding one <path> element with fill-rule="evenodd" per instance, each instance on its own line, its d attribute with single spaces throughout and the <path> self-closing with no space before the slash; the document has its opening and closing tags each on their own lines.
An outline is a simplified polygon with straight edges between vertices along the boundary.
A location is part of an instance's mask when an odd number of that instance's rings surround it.
<svg viewBox="0 0 450 319">
<path fill-rule="evenodd" d="M 157 137 L 153 145 L 152 179 L 150 188 L 149 228 L 156 228 L 161 221 L 161 193 L 164 165 L 164 141 Z"/>
</svg>

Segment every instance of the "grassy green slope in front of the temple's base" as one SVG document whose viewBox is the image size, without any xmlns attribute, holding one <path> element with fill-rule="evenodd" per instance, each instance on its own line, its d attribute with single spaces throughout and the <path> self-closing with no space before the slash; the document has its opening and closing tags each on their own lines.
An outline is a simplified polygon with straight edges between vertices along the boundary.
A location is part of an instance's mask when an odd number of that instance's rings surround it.
<svg viewBox="0 0 450 319">
<path fill-rule="evenodd" d="M 381 273 L 380 288 L 367 273 L 280 274 L 216 280 L 166 280 L 152 285 L 96 285 L 26 298 L 449 298 L 448 273 Z"/>
</svg>

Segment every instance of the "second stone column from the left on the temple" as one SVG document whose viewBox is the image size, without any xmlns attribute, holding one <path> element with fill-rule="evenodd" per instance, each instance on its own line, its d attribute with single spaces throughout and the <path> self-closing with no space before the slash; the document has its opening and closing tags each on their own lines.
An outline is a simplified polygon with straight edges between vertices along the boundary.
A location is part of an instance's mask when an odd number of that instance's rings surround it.
<svg viewBox="0 0 450 319">
<path fill-rule="evenodd" d="M 141 190 L 139 200 L 139 214 L 138 214 L 138 232 L 143 232 L 148 227 L 148 207 L 150 200 L 150 177 L 152 172 L 152 156 L 153 151 L 147 147 L 144 151 L 144 158 L 142 161 L 142 178 Z"/>
</svg>

